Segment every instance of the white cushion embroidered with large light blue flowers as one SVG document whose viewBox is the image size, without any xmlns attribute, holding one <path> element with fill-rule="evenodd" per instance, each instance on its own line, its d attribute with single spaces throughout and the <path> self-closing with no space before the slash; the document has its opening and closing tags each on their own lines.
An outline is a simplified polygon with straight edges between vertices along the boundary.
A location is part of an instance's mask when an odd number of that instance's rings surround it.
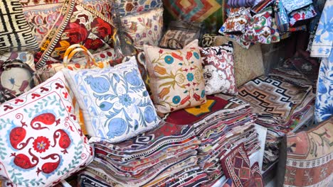
<svg viewBox="0 0 333 187">
<path fill-rule="evenodd" d="M 63 69 L 83 110 L 90 142 L 122 142 L 159 123 L 135 57 L 108 69 Z"/>
</svg>

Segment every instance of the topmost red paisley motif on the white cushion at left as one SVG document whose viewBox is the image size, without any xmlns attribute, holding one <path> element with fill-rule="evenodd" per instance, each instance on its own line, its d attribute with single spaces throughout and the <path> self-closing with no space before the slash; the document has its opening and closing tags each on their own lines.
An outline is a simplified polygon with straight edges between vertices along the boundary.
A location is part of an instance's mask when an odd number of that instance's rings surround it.
<svg viewBox="0 0 333 187">
<path fill-rule="evenodd" d="M 31 128 L 35 130 L 46 129 L 46 127 L 42 127 L 44 125 L 53 125 L 56 122 L 56 125 L 60 123 L 60 119 L 56 120 L 56 116 L 53 113 L 42 113 L 41 115 L 37 115 L 33 120 L 31 120 Z M 48 129 L 48 128 L 47 128 Z"/>
</svg>

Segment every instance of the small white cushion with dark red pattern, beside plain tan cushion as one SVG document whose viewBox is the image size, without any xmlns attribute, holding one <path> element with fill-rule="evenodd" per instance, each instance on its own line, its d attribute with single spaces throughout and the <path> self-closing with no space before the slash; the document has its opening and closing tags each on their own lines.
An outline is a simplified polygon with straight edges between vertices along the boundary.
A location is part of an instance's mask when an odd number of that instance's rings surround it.
<svg viewBox="0 0 333 187">
<path fill-rule="evenodd" d="M 205 78 L 206 94 L 237 95 L 233 71 L 233 42 L 200 49 Z"/>
</svg>

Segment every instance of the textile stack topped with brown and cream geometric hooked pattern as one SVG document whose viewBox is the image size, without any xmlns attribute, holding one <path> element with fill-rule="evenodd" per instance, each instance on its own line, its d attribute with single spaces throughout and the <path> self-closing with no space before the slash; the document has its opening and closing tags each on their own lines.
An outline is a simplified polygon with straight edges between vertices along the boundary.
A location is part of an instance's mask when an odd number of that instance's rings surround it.
<svg viewBox="0 0 333 187">
<path fill-rule="evenodd" d="M 275 77 L 249 81 L 240 87 L 238 98 L 250 103 L 258 114 L 256 123 L 268 128 L 265 164 L 276 161 L 281 137 L 295 128 L 314 105 L 312 86 L 291 84 Z"/>
</svg>

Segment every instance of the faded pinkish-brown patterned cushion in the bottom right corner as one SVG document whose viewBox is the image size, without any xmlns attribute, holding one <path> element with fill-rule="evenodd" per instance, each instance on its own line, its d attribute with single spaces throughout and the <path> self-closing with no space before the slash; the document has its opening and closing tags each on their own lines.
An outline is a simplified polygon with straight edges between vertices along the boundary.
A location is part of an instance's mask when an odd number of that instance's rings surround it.
<svg viewBox="0 0 333 187">
<path fill-rule="evenodd" d="M 288 133 L 284 186 L 329 186 L 333 179 L 332 142 L 333 118 L 311 130 Z"/>
</svg>

